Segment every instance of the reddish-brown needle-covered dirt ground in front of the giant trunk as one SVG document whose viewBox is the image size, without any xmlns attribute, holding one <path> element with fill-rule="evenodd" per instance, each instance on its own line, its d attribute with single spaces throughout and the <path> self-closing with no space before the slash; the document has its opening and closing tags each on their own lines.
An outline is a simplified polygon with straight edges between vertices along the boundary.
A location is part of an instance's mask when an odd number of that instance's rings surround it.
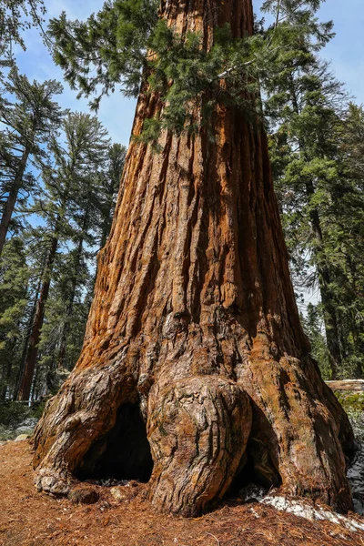
<svg viewBox="0 0 364 546">
<path fill-rule="evenodd" d="M 161 515 L 141 484 L 121 503 L 104 487 L 93 505 L 53 499 L 36 492 L 30 460 L 27 441 L 0 446 L 0 546 L 364 545 L 364 533 L 238 500 L 194 520 Z"/>
</svg>

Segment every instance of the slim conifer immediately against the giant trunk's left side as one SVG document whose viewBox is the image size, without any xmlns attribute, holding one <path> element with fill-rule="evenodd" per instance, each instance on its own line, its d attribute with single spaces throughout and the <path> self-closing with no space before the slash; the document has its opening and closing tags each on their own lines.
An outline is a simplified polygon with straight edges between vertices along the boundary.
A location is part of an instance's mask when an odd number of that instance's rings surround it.
<svg viewBox="0 0 364 546">
<path fill-rule="evenodd" d="M 41 345 L 46 343 L 48 347 L 43 350 L 42 362 L 49 369 L 51 383 L 56 369 L 72 369 L 79 356 L 95 281 L 96 248 L 100 240 L 103 246 L 108 236 L 124 167 L 125 147 L 114 144 L 99 150 L 93 158 L 91 152 L 89 165 L 82 173 L 84 183 L 71 207 L 72 248 L 59 257 L 58 280 L 51 295 L 53 305 L 49 306 L 52 318 L 47 319 L 45 313 L 45 321 L 53 326 L 47 324 L 49 336 L 42 334 Z M 47 341 L 52 336 L 54 341 Z"/>
</svg>

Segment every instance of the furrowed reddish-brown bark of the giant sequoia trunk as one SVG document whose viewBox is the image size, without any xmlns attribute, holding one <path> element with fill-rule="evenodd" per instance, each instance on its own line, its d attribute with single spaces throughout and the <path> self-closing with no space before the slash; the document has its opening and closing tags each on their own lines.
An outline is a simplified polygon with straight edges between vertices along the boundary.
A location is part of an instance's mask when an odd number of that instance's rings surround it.
<svg viewBox="0 0 364 546">
<path fill-rule="evenodd" d="M 161 15 L 206 47 L 216 25 L 252 32 L 250 0 L 173 0 Z M 141 94 L 135 135 L 160 108 Z M 84 349 L 35 430 L 37 486 L 67 494 L 103 468 L 133 407 L 161 510 L 205 511 L 244 472 L 348 510 L 352 432 L 299 323 L 266 137 L 233 107 L 211 121 L 215 142 L 201 130 L 164 134 L 160 154 L 131 143 Z M 115 451 L 141 445 L 138 430 Z M 134 474 L 147 480 L 147 465 Z"/>
</svg>

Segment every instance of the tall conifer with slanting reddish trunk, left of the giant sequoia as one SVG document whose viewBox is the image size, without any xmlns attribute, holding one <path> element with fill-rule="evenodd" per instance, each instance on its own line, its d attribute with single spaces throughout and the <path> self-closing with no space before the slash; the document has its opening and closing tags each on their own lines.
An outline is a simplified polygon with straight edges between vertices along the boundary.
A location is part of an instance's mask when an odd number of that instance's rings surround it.
<svg viewBox="0 0 364 546">
<path fill-rule="evenodd" d="M 57 249 L 60 242 L 72 239 L 75 234 L 75 227 L 72 224 L 75 221 L 75 210 L 76 214 L 79 214 L 80 199 L 89 188 L 90 173 L 97 172 L 108 145 L 106 130 L 96 117 L 85 114 L 69 114 L 63 123 L 63 129 L 66 145 L 61 146 L 54 140 L 54 165 L 52 167 L 45 166 L 43 171 L 46 199 L 42 197 L 41 201 L 37 200 L 35 207 L 31 209 L 37 210 L 38 214 L 45 218 L 47 255 L 18 393 L 19 399 L 28 399 L 30 394 Z M 87 207 L 88 205 L 86 205 Z M 84 220 L 86 218 L 88 221 L 86 211 L 81 214 L 83 214 Z M 78 238 L 80 253 L 84 237 L 84 231 L 81 229 Z M 80 259 L 81 256 L 77 254 L 78 266 Z M 73 274 L 75 275 L 75 271 Z M 75 289 L 74 278 L 71 279 L 69 306 L 75 298 Z"/>
</svg>

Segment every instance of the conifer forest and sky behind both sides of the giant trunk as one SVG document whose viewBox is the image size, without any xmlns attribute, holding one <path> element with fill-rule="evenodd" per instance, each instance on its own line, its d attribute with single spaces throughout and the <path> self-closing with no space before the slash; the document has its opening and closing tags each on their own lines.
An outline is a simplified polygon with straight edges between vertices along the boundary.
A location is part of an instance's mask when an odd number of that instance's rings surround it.
<svg viewBox="0 0 364 546">
<path fill-rule="evenodd" d="M 62 10 L 84 20 L 102 5 L 46 0 L 37 13 L 46 28 Z M 364 15 L 359 0 L 346 7 L 322 4 L 336 36 L 262 85 L 298 307 L 325 379 L 361 378 L 364 367 Z M 0 258 L 2 400 L 42 399 L 76 363 L 136 106 L 116 91 L 96 117 L 57 83 L 37 25 L 21 35 L 0 103 L 2 227 L 18 184 Z"/>
</svg>

